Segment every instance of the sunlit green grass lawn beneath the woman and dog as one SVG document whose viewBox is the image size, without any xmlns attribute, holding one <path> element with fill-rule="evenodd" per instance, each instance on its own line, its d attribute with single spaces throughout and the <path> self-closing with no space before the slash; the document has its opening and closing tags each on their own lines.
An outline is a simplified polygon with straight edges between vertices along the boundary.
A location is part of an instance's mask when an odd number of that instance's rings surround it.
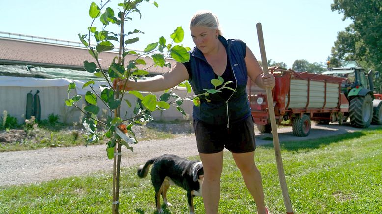
<svg viewBox="0 0 382 214">
<path fill-rule="evenodd" d="M 293 210 L 296 214 L 379 214 L 382 211 L 382 128 L 281 145 Z M 191 157 L 198 159 L 198 157 Z M 285 213 L 272 145 L 256 150 L 266 205 Z M 110 170 L 111 170 L 110 165 Z M 38 185 L 0 187 L 0 213 L 111 213 L 112 174 L 99 172 Z M 155 213 L 149 178 L 136 167 L 121 172 L 120 213 Z M 188 213 L 185 192 L 170 187 L 167 213 Z M 195 198 L 196 213 L 204 213 Z M 230 153 L 224 155 L 219 213 L 255 213 Z"/>
</svg>

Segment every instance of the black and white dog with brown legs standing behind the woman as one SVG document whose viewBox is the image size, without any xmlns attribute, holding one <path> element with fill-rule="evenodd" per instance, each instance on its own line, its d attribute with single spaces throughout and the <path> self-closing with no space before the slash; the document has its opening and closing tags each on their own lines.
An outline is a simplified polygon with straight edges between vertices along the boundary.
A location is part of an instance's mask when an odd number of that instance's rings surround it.
<svg viewBox="0 0 382 214">
<path fill-rule="evenodd" d="M 164 154 L 152 158 L 146 164 L 139 166 L 138 176 L 140 178 L 146 177 L 151 165 L 153 165 L 151 169 L 151 183 L 155 189 L 155 205 L 158 213 L 163 213 L 160 203 L 161 195 L 164 204 L 171 206 L 167 201 L 167 189 L 170 185 L 175 184 L 187 191 L 190 214 L 194 214 L 193 197 L 202 196 L 204 177 L 202 162 L 191 161 L 176 155 Z"/>
</svg>

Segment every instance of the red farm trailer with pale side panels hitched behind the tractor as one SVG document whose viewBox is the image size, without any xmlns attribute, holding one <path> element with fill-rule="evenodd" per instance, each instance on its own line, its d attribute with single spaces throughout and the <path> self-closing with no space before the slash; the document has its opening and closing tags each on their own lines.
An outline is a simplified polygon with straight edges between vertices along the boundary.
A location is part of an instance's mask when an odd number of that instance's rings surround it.
<svg viewBox="0 0 382 214">
<path fill-rule="evenodd" d="M 349 111 L 349 102 L 341 91 L 346 78 L 274 67 L 269 70 L 276 79 L 272 90 L 276 122 L 292 125 L 296 136 L 309 135 L 311 120 L 327 124 L 342 122 L 344 113 Z M 258 129 L 271 132 L 265 90 L 248 80 L 247 93 Z"/>
</svg>

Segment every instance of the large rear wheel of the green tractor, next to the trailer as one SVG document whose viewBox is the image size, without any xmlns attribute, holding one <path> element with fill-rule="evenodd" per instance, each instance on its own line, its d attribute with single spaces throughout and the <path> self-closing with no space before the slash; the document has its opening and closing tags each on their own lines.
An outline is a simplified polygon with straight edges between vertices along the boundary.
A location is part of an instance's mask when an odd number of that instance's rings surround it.
<svg viewBox="0 0 382 214">
<path fill-rule="evenodd" d="M 373 98 L 369 94 L 353 98 L 349 105 L 349 117 L 352 126 L 369 127 L 373 118 Z"/>
</svg>

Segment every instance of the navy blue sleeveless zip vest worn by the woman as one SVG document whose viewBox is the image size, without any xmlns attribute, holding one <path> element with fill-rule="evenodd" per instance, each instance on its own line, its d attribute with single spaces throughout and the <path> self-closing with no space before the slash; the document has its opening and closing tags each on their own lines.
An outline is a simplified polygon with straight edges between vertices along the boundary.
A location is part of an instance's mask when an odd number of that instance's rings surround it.
<svg viewBox="0 0 382 214">
<path fill-rule="evenodd" d="M 219 40 L 227 50 L 237 83 L 236 89 L 235 86 L 231 88 L 236 92 L 232 91 L 233 94 L 228 100 L 224 100 L 219 92 L 207 97 L 210 102 L 201 96 L 200 106 L 193 107 L 193 118 L 209 124 L 227 124 L 228 127 L 229 124 L 244 120 L 251 115 L 246 93 L 248 75 L 242 47 L 244 43 L 241 40 L 226 40 L 222 36 L 219 36 Z M 204 93 L 204 89 L 214 89 L 211 80 L 215 79 L 215 73 L 203 53 L 196 47 L 190 51 L 190 70 L 189 82 L 195 94 Z"/>
</svg>

